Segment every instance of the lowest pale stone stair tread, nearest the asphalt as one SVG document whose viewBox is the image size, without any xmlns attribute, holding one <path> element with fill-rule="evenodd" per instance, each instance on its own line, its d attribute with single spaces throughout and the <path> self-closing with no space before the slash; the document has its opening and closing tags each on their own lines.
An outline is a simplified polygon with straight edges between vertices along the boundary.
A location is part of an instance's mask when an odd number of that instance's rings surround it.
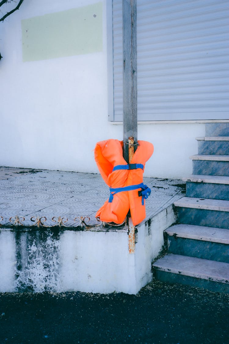
<svg viewBox="0 0 229 344">
<path fill-rule="evenodd" d="M 154 262 L 153 267 L 180 275 L 229 283 L 229 264 L 224 262 L 168 254 Z"/>
</svg>

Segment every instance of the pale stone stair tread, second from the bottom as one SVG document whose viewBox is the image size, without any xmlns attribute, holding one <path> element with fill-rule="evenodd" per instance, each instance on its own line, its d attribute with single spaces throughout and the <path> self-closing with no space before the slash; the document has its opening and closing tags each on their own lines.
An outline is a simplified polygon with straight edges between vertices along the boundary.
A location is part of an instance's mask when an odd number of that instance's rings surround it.
<svg viewBox="0 0 229 344">
<path fill-rule="evenodd" d="M 229 230 L 224 228 L 179 224 L 169 227 L 165 232 L 169 236 L 176 234 L 181 238 L 229 244 Z"/>
</svg>

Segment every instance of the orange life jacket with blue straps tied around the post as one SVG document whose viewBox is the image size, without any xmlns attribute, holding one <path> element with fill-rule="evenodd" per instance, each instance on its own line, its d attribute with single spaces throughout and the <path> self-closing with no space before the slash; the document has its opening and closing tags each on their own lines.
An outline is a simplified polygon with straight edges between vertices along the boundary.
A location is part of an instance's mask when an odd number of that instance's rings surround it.
<svg viewBox="0 0 229 344">
<path fill-rule="evenodd" d="M 129 209 L 134 225 L 146 217 L 144 198 L 148 197 L 150 189 L 142 182 L 145 163 L 153 153 L 153 145 L 147 141 L 138 143 L 130 164 L 123 158 L 123 141 L 109 139 L 96 143 L 95 162 L 111 191 L 110 198 L 95 215 L 101 221 L 121 224 Z"/>
</svg>

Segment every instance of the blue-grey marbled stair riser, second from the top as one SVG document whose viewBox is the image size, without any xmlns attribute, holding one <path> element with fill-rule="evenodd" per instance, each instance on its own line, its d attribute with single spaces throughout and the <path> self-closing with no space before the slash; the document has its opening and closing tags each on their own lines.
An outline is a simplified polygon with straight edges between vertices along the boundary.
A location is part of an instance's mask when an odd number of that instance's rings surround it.
<svg viewBox="0 0 229 344">
<path fill-rule="evenodd" d="M 198 154 L 229 154 L 229 141 L 198 141 Z"/>
</svg>

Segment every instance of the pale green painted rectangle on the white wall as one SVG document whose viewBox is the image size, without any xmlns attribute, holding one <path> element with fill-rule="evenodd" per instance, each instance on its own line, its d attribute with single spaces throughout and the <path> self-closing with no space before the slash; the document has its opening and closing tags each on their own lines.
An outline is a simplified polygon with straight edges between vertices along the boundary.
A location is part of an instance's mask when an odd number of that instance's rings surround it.
<svg viewBox="0 0 229 344">
<path fill-rule="evenodd" d="M 97 2 L 22 20 L 23 62 L 102 51 L 102 13 Z"/>
</svg>

